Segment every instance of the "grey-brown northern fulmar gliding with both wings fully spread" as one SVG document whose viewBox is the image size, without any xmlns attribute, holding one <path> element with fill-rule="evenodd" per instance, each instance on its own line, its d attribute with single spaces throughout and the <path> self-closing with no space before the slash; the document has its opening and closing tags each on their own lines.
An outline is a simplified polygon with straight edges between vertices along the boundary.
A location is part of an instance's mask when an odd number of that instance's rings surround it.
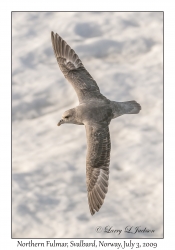
<svg viewBox="0 0 175 250">
<path fill-rule="evenodd" d="M 110 134 L 112 119 L 124 114 L 137 114 L 141 110 L 136 101 L 110 101 L 84 67 L 73 49 L 58 35 L 51 32 L 55 57 L 65 78 L 75 89 L 79 105 L 64 112 L 58 126 L 63 123 L 85 125 L 87 137 L 86 185 L 91 215 L 101 208 L 108 191 Z"/>
</svg>

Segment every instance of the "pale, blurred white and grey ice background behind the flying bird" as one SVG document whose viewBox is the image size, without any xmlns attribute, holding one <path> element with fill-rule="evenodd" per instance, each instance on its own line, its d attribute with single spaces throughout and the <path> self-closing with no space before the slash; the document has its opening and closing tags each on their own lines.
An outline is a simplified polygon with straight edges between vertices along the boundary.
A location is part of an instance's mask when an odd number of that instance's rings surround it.
<svg viewBox="0 0 175 250">
<path fill-rule="evenodd" d="M 90 215 L 84 126 L 57 127 L 78 105 L 52 51 L 57 32 L 77 52 L 101 93 L 142 110 L 110 124 L 109 189 Z M 163 14 L 12 14 L 12 237 L 163 236 Z M 97 226 L 122 229 L 97 233 Z M 155 233 L 125 233 L 126 226 Z"/>
</svg>

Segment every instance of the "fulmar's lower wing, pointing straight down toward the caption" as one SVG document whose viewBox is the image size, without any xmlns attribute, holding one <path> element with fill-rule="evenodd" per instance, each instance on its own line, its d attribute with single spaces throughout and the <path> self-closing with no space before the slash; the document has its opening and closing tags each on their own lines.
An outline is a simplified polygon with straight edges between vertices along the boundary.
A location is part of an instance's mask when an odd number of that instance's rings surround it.
<svg viewBox="0 0 175 250">
<path fill-rule="evenodd" d="M 91 214 L 98 212 L 108 191 L 110 163 L 109 127 L 85 125 L 87 137 L 86 184 Z"/>
</svg>

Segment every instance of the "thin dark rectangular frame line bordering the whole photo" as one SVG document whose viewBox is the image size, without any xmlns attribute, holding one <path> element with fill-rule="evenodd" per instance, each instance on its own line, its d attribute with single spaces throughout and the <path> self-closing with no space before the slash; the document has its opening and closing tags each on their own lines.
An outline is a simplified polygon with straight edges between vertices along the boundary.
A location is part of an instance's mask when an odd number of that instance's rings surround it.
<svg viewBox="0 0 175 250">
<path fill-rule="evenodd" d="M 13 12 L 162 12 L 163 13 L 163 237 L 162 238 L 13 238 L 12 237 L 12 13 Z M 164 11 L 11 11 L 11 239 L 125 239 L 125 240 L 141 240 L 141 239 L 149 239 L 149 240 L 162 240 L 164 239 Z"/>
</svg>

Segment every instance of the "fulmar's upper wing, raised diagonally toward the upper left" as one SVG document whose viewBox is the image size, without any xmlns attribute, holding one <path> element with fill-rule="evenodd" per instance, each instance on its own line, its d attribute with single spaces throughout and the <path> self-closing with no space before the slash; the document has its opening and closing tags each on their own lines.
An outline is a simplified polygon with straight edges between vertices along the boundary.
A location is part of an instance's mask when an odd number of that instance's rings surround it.
<svg viewBox="0 0 175 250">
<path fill-rule="evenodd" d="M 51 32 L 51 40 L 58 65 L 65 78 L 74 87 L 79 102 L 83 103 L 92 99 L 108 101 L 100 93 L 97 83 L 85 69 L 75 51 L 53 31 Z"/>
</svg>

